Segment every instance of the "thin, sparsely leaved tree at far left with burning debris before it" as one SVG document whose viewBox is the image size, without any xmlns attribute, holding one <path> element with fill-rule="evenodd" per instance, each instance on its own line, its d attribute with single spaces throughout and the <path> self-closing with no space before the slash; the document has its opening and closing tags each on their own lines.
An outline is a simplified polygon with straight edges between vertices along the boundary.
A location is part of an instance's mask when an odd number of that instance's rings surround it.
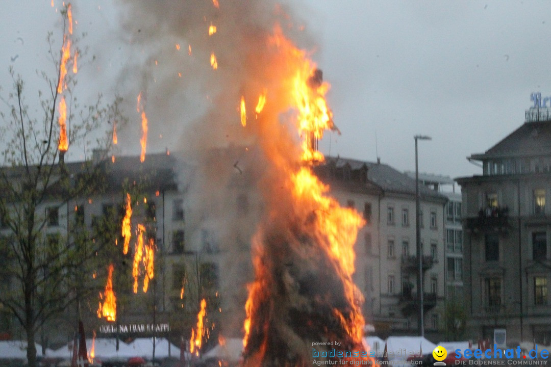
<svg viewBox="0 0 551 367">
<path fill-rule="evenodd" d="M 73 95 L 76 79 L 71 69 L 77 72 L 73 63 L 80 50 L 74 47 L 70 11 L 69 5 L 61 12 L 61 47 L 55 46 L 52 33 L 47 36 L 56 73 L 43 72 L 47 92 L 32 93 L 38 94 L 41 108 L 29 105 L 23 78 L 10 68 L 13 91 L 2 98 L 8 108 L 0 112 L 6 127 L 0 134 L 0 250 L 5 255 L 0 279 L 6 280 L 0 284 L 0 305 L 23 327 L 31 367 L 36 366 L 37 331 L 86 291 L 83 266 L 101 244 L 74 227 L 79 216 L 75 200 L 101 189 L 102 160 L 93 160 L 88 149 L 93 144 L 98 151 L 109 151 L 111 123 L 124 121 L 120 98 L 104 104 L 100 96 L 80 107 Z M 65 162 L 68 150 L 84 161 Z"/>
</svg>

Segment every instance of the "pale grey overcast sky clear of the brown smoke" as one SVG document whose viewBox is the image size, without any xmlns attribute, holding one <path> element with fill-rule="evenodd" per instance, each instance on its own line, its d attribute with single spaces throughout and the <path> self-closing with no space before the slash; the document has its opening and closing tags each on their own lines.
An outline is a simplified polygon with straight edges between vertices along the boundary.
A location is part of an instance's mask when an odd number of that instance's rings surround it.
<svg viewBox="0 0 551 367">
<path fill-rule="evenodd" d="M 42 51 L 60 20 L 50 2 L 3 2 L 3 95 L 12 58 L 23 75 L 51 70 Z M 80 46 L 97 56 L 84 65 L 79 88 L 109 96 L 117 89 L 111 80 L 132 57 L 117 31 L 120 8 L 111 0 L 76 0 L 73 7 L 75 29 L 89 34 Z M 531 92 L 551 96 L 549 2 L 305 0 L 296 9 L 316 36 L 314 59 L 332 85 L 329 105 L 342 131 L 321 143 L 325 154 L 331 146 L 332 155 L 375 161 L 376 132 L 382 162 L 413 170 L 413 136 L 426 134 L 433 140 L 419 145 L 420 171 L 481 173 L 466 156 L 521 125 Z M 138 152 L 138 145 L 125 151 Z"/>
</svg>

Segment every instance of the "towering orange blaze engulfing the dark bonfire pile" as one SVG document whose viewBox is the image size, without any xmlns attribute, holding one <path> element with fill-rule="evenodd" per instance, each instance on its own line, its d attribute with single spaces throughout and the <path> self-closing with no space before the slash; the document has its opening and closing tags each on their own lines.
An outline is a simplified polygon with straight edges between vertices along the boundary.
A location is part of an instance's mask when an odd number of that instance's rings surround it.
<svg viewBox="0 0 551 367">
<path fill-rule="evenodd" d="M 294 122 L 302 141 L 300 150 L 282 151 L 281 146 L 288 146 L 288 141 L 278 145 L 280 142 L 274 141 L 278 136 L 272 133 L 273 128 L 263 126 L 259 132 L 263 134 L 260 141 L 274 169 L 270 177 L 280 180 L 271 184 L 281 190 L 278 199 L 273 200 L 270 197 L 273 192 L 266 189 L 269 217 L 261 223 L 252 241 L 255 281 L 248 286 L 243 339 L 247 367 L 260 365 L 258 361 L 265 358 L 268 364 L 279 360 L 281 347 L 273 347 L 270 341 L 285 342 L 285 338 L 295 337 L 291 330 L 293 325 L 289 325 L 289 330 L 285 329 L 281 335 L 272 335 L 281 330 L 280 323 L 288 322 L 287 316 L 282 316 L 288 315 L 285 308 L 296 308 L 296 302 L 299 302 L 275 289 L 289 287 L 289 292 L 294 292 L 290 288 L 299 279 L 312 278 L 314 282 L 323 282 L 312 289 L 314 294 L 305 297 L 307 300 L 304 300 L 300 312 L 306 316 L 309 313 L 306 309 L 328 308 L 326 317 L 331 320 L 325 325 L 329 322 L 332 325 L 331 328 L 315 322 L 305 325 L 308 328 L 306 338 L 339 339 L 348 348 L 363 348 L 361 337 L 365 322 L 360 308 L 363 298 L 352 279 L 354 243 L 364 221 L 358 212 L 341 207 L 331 198 L 329 187 L 312 172 L 313 162 L 324 159 L 317 150 L 317 140 L 322 138 L 325 130 L 336 129 L 325 100 L 329 85 L 322 82 L 316 65 L 283 35 L 279 26 L 269 37 L 268 44 L 269 52 L 277 54 L 274 60 L 280 62 L 272 66 L 277 72 L 271 69 L 270 73 L 278 75 L 277 82 L 282 86 L 279 91 L 274 90 L 274 105 L 281 102 L 274 108 L 279 109 L 271 112 L 276 112 L 274 115 L 277 116 L 288 108 L 293 109 L 296 112 Z M 277 118 L 268 120 L 261 123 L 280 124 Z M 287 135 L 280 139 L 293 141 Z M 281 269 L 280 264 L 287 262 L 291 263 L 290 270 Z M 333 295 L 336 288 L 342 289 L 342 294 Z M 274 305 L 277 305 L 277 311 Z M 300 333 L 304 335 L 305 331 L 301 329 Z M 293 365 L 306 363 L 306 355 L 295 357 L 299 361 Z"/>
</svg>

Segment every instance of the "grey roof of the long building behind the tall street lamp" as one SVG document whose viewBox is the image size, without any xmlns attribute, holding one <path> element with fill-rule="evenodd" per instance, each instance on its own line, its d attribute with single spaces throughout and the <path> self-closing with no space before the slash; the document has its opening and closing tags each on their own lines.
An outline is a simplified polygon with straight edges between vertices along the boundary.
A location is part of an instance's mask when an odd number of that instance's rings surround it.
<svg viewBox="0 0 551 367">
<path fill-rule="evenodd" d="M 366 177 L 363 181 L 363 186 L 366 190 L 375 189 L 382 193 L 415 195 L 415 179 L 408 177 L 407 174 L 399 172 L 397 169 L 384 163 L 364 162 L 341 157 L 327 157 L 325 165 L 322 166 L 328 167 L 329 169 L 331 169 L 331 167 L 333 167 L 333 169 L 349 169 L 351 171 L 350 180 L 356 181 L 356 186 L 361 184 L 362 180 L 361 175 L 354 175 L 354 171 L 365 169 Z M 319 171 L 319 168 L 317 171 Z M 327 176 L 327 174 L 322 174 L 321 176 Z M 333 176 L 336 175 L 333 174 Z M 344 177 L 346 176 L 343 174 L 339 181 L 346 184 L 347 179 L 344 179 Z M 354 180 L 354 178 L 356 179 Z M 433 198 L 442 201 L 447 200 L 446 196 L 426 188 L 423 185 L 419 185 L 419 193 L 423 198 Z"/>
</svg>

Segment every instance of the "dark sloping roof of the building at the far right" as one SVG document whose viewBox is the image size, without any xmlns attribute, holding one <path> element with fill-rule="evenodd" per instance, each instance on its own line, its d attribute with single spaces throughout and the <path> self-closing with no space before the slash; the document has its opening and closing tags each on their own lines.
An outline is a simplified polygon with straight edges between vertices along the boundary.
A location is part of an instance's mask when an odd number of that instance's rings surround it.
<svg viewBox="0 0 551 367">
<path fill-rule="evenodd" d="M 526 122 L 475 160 L 493 157 L 551 155 L 551 122 Z"/>
</svg>

